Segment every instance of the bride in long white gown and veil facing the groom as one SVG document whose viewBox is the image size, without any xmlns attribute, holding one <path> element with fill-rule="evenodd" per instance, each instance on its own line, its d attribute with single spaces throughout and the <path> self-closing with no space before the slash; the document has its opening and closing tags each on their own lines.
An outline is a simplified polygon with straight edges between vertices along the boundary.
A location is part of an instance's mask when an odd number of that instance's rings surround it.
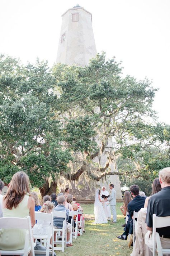
<svg viewBox="0 0 170 256">
<path fill-rule="evenodd" d="M 97 189 L 95 201 L 94 201 L 94 214 L 95 214 L 95 224 L 102 224 L 107 223 L 107 217 L 105 215 L 105 212 L 103 210 L 102 202 L 105 202 L 104 200 L 101 200 L 100 198 L 100 190 Z"/>
</svg>

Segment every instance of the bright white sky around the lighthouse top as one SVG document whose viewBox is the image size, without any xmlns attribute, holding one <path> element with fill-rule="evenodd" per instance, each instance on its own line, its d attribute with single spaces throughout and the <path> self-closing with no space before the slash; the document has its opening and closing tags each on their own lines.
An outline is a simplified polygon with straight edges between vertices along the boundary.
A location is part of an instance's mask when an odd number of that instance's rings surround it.
<svg viewBox="0 0 170 256">
<path fill-rule="evenodd" d="M 170 124 L 170 0 L 0 0 L 0 53 L 52 67 L 61 15 L 77 3 L 92 13 L 97 52 L 122 61 L 123 76 L 152 80 L 153 109 Z"/>
</svg>

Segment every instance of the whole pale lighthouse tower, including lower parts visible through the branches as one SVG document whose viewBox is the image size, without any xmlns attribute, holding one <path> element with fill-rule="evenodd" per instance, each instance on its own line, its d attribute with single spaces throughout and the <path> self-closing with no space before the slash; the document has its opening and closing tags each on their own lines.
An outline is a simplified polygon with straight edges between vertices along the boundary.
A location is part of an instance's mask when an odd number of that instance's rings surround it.
<svg viewBox="0 0 170 256">
<path fill-rule="evenodd" d="M 68 9 L 62 15 L 62 26 L 60 32 L 60 40 L 58 44 L 58 53 L 56 63 L 63 63 L 71 66 L 88 66 L 89 60 L 96 55 L 96 46 L 92 28 L 92 15 L 79 5 Z M 100 142 L 96 140 L 98 144 Z M 94 162 L 100 163 L 101 167 L 106 165 L 108 155 L 112 152 L 113 143 L 112 138 L 109 139 L 108 145 L 101 156 L 95 157 Z M 114 163 L 110 164 L 110 171 L 117 171 Z M 118 175 L 107 176 L 105 181 L 98 181 L 98 186 L 105 185 L 109 190 L 109 183 L 113 183 L 117 192 L 117 199 L 122 199 L 121 186 Z M 95 197 L 94 187 L 92 191 L 87 185 L 79 191 L 74 181 L 71 182 L 72 194 L 79 199 L 79 201 L 93 200 Z M 79 185 L 82 182 L 79 181 Z M 69 186 L 69 184 L 68 184 Z"/>
</svg>

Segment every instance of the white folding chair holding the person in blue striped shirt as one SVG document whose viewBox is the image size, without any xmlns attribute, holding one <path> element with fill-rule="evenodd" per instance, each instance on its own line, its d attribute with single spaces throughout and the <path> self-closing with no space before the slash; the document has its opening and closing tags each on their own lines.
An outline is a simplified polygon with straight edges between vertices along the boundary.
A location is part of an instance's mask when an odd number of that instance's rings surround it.
<svg viewBox="0 0 170 256">
<path fill-rule="evenodd" d="M 67 221 L 66 221 L 66 211 L 53 211 L 53 217 L 63 218 L 62 228 L 54 228 L 54 232 L 56 232 L 56 241 L 54 244 L 61 244 L 61 247 L 55 247 L 55 251 L 64 252 L 64 248 L 67 248 Z M 62 232 L 62 235 L 60 235 Z M 62 241 L 58 241 L 58 238 L 62 238 Z"/>
</svg>

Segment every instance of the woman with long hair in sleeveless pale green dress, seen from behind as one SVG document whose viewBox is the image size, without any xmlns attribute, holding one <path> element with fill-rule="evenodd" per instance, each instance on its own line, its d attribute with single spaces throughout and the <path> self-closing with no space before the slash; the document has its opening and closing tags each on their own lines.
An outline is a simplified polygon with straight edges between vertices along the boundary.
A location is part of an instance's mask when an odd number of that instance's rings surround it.
<svg viewBox="0 0 170 256">
<path fill-rule="evenodd" d="M 35 225 L 34 199 L 29 194 L 29 178 L 23 171 L 16 172 L 3 198 L 3 216 L 26 218 L 30 216 L 32 227 Z M 1 229 L 0 249 L 20 250 L 24 248 L 24 229 Z"/>
</svg>

